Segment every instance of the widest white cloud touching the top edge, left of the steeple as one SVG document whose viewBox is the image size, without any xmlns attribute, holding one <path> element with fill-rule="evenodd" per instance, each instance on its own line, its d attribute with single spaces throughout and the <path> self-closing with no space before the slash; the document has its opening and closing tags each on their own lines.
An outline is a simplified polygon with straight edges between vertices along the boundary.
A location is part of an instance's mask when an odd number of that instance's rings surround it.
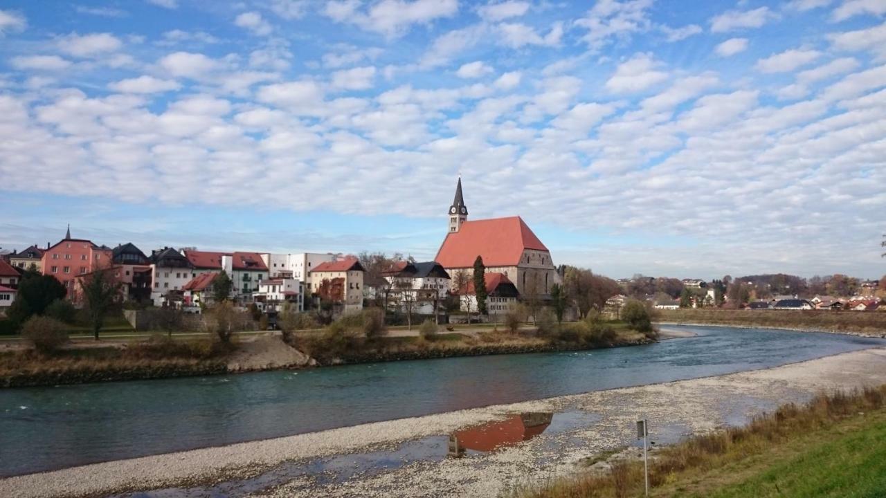
<svg viewBox="0 0 886 498">
<path fill-rule="evenodd" d="M 324 15 L 337 22 L 355 24 L 389 37 L 405 35 L 415 24 L 430 24 L 456 12 L 457 0 L 381 0 L 367 12 L 361 11 L 359 0 L 332 0 L 323 9 Z"/>
</svg>

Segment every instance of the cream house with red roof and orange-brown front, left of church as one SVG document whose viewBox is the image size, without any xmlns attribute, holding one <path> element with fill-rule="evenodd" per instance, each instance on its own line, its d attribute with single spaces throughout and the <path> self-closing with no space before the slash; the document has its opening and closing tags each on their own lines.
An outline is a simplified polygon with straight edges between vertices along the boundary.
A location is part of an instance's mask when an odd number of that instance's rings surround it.
<svg viewBox="0 0 886 498">
<path fill-rule="evenodd" d="M 354 256 L 320 263 L 308 271 L 312 297 L 327 300 L 344 313 L 363 308 L 363 266 Z"/>
</svg>

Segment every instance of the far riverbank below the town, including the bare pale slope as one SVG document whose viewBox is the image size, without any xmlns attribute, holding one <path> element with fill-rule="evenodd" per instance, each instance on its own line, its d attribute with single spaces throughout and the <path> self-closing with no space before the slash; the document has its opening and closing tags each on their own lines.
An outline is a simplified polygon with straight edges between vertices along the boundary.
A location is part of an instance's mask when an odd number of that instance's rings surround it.
<svg viewBox="0 0 886 498">
<path fill-rule="evenodd" d="M 585 341 L 538 337 L 535 331 L 474 331 L 439 334 L 434 338 L 402 333 L 372 341 L 360 339 L 334 358 L 316 358 L 285 344 L 280 335 L 237 338 L 229 350 L 214 352 L 210 339 L 174 340 L 159 336 L 147 341 L 76 344 L 57 354 L 25 349 L 0 353 L 0 387 L 73 385 L 91 382 L 195 377 L 264 370 L 298 370 L 340 364 L 428 360 L 491 354 L 550 353 L 601 347 L 639 346 L 655 339 L 619 328 L 612 338 Z M 309 351 L 309 350 L 307 350 Z"/>
</svg>

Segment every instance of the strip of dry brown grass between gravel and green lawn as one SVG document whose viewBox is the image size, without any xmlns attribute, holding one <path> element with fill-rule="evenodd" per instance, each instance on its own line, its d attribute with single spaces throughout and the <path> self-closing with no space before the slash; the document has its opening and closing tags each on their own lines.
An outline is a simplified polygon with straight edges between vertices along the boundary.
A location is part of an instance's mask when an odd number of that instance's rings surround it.
<svg viewBox="0 0 886 498">
<path fill-rule="evenodd" d="M 859 412 L 886 408 L 886 385 L 851 393 L 816 396 L 804 405 L 789 403 L 773 413 L 755 417 L 743 427 L 692 437 L 663 447 L 649 462 L 649 486 L 670 485 L 688 473 L 711 471 L 760 455 L 774 445 L 831 427 Z M 557 479 L 544 486 L 520 489 L 513 498 L 596 498 L 641 495 L 643 463 L 618 461 L 610 471 L 588 472 L 576 478 Z"/>
</svg>

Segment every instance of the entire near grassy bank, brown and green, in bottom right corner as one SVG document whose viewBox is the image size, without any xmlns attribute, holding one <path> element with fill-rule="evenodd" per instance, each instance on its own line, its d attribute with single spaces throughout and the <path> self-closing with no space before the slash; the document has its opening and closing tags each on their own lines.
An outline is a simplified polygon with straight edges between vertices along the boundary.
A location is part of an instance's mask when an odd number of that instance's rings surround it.
<svg viewBox="0 0 886 498">
<path fill-rule="evenodd" d="M 633 453 L 633 452 L 632 452 Z M 741 428 L 663 447 L 650 458 L 651 496 L 881 496 L 886 490 L 886 385 L 788 404 Z M 643 463 L 618 460 L 518 498 L 643 494 Z"/>
</svg>

